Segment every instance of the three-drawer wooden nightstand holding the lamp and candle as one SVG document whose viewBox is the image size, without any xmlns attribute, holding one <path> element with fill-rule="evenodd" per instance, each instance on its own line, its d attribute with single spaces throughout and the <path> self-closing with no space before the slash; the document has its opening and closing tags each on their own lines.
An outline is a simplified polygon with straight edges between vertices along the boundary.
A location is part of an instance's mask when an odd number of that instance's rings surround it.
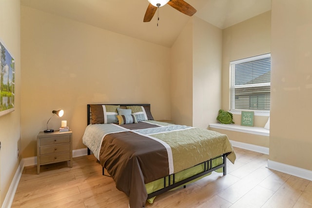
<svg viewBox="0 0 312 208">
<path fill-rule="evenodd" d="M 44 133 L 37 135 L 37 174 L 40 166 L 62 161 L 70 161 L 73 166 L 72 131 Z"/>
</svg>

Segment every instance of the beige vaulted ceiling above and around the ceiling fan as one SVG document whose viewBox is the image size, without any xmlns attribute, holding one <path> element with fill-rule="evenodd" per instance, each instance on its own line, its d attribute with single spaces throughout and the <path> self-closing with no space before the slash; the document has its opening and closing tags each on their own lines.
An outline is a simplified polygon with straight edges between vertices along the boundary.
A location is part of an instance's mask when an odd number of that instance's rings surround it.
<svg viewBox="0 0 312 208">
<path fill-rule="evenodd" d="M 271 10 L 271 0 L 185 0 L 195 16 L 224 29 Z M 148 0 L 20 0 L 21 5 L 171 47 L 191 17 L 170 5 L 143 22 Z M 157 16 L 159 16 L 157 26 Z"/>
</svg>

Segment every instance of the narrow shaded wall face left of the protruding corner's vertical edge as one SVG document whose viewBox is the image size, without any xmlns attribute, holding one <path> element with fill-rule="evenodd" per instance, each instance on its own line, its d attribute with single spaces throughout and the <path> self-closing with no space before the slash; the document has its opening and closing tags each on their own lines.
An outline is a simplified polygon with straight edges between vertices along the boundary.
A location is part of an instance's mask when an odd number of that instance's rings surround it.
<svg viewBox="0 0 312 208">
<path fill-rule="evenodd" d="M 171 117 L 175 124 L 193 125 L 193 19 L 171 47 Z"/>
</svg>

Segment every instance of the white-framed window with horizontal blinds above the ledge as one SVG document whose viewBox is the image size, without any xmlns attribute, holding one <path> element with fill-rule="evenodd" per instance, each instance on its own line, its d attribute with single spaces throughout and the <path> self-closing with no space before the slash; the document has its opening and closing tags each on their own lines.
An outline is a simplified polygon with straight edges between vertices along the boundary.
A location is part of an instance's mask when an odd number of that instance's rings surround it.
<svg viewBox="0 0 312 208">
<path fill-rule="evenodd" d="M 230 62 L 231 110 L 270 111 L 271 54 Z"/>
</svg>

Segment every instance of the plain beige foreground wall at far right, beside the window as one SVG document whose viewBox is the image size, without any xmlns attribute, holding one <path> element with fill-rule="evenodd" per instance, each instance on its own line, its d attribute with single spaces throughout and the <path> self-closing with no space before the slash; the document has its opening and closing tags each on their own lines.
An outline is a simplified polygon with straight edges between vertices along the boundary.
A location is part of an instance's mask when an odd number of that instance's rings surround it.
<svg viewBox="0 0 312 208">
<path fill-rule="evenodd" d="M 272 0 L 270 160 L 312 170 L 312 1 Z"/>
</svg>

